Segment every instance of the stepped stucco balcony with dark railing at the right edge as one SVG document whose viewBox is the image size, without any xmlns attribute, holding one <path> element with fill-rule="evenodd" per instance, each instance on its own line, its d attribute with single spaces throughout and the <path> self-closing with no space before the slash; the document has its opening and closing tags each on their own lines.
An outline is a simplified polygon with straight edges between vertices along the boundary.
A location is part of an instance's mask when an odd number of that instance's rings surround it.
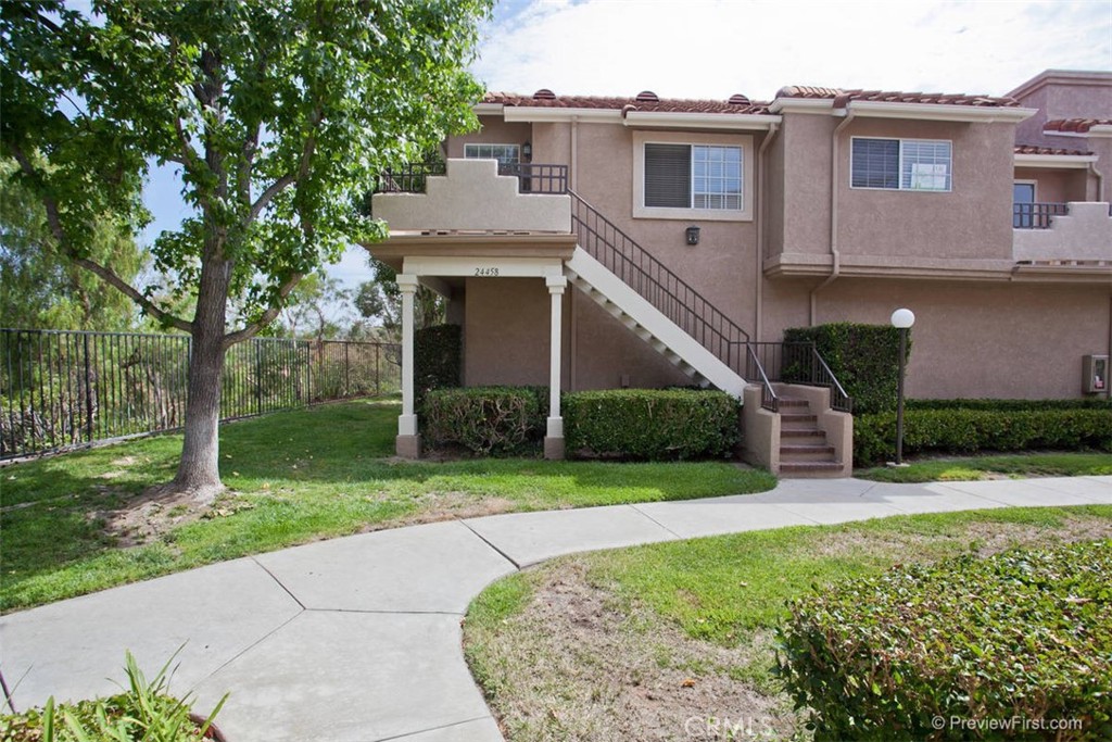
<svg viewBox="0 0 1112 742">
<path fill-rule="evenodd" d="M 1020 267 L 1112 267 L 1108 202 L 1015 204 L 1012 226 L 1012 257 Z"/>
</svg>

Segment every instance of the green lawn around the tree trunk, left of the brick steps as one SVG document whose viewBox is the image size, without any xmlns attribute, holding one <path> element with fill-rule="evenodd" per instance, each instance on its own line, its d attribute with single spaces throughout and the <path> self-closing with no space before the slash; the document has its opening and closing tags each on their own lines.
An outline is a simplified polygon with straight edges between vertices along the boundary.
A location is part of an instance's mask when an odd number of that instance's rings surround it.
<svg viewBox="0 0 1112 742">
<path fill-rule="evenodd" d="M 229 492 L 207 517 L 138 545 L 110 521 L 173 476 L 180 436 L 0 469 L 0 610 L 48 603 L 318 538 L 456 515 L 683 499 L 768 489 L 727 463 L 390 458 L 398 407 L 326 405 L 221 428 Z M 182 515 L 180 504 L 148 506 Z"/>
</svg>

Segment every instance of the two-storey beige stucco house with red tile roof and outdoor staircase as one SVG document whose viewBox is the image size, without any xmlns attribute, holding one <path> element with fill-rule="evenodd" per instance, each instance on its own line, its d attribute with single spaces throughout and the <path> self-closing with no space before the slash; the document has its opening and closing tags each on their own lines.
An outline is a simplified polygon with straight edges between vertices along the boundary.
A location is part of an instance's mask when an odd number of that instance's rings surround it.
<svg viewBox="0 0 1112 742">
<path fill-rule="evenodd" d="M 759 407 L 777 363 L 761 344 L 897 307 L 917 318 L 910 396 L 1108 394 L 1106 366 L 1082 368 L 1112 345 L 1112 72 L 1052 70 L 1000 98 L 538 90 L 475 111 L 445 175 L 374 197 L 390 239 L 370 248 L 406 307 L 418 284 L 449 298 L 465 384 L 550 384 L 549 455 L 559 389 L 694 380 Z M 403 455 L 419 451 L 411 337 L 409 321 Z M 827 402 L 806 412 L 846 471 Z M 746 425 L 774 436 L 755 457 L 777 468 L 793 413 L 765 407 Z"/>
</svg>

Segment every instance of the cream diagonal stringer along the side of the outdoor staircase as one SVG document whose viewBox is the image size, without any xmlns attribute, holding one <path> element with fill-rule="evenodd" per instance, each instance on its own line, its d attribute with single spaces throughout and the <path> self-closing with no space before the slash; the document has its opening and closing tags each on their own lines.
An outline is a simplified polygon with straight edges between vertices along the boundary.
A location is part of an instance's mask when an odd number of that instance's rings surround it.
<svg viewBox="0 0 1112 742">
<path fill-rule="evenodd" d="M 742 398 L 746 385 L 744 378 L 718 360 L 698 340 L 668 319 L 645 297 L 618 278 L 609 268 L 593 258 L 585 249 L 575 248 L 572 257 L 564 261 L 564 274 L 573 283 L 576 278 L 585 281 L 620 309 L 622 315 L 629 317 L 638 326 L 646 329 L 652 337 L 642 339 L 651 346 L 655 347 L 653 339 L 658 340 L 665 349 L 679 356 L 707 382 L 731 396 Z M 657 350 L 664 353 L 664 349 L 657 348 Z"/>
</svg>

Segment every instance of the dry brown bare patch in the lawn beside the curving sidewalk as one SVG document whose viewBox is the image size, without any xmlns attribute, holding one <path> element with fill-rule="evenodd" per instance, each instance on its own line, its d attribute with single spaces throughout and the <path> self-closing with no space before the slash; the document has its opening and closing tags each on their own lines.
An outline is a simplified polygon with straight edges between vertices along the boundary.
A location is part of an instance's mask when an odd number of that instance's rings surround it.
<svg viewBox="0 0 1112 742">
<path fill-rule="evenodd" d="M 589 584 L 584 562 L 563 560 L 534 576 L 525 611 L 485 644 L 497 687 L 490 699 L 512 740 L 718 740 L 752 722 L 764 736 L 791 736 L 798 720 L 786 698 L 738 682 L 768 647 L 726 649 L 689 639 L 643 606 L 619 604 Z M 494 674 L 492 674 L 494 680 Z M 738 739 L 745 739 L 744 735 Z"/>
</svg>

